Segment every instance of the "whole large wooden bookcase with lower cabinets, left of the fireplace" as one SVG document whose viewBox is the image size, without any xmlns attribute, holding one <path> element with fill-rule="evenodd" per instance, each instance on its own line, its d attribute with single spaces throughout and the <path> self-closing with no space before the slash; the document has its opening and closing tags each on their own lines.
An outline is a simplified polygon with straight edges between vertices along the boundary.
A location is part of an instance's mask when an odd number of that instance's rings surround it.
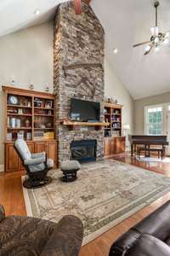
<svg viewBox="0 0 170 256">
<path fill-rule="evenodd" d="M 54 95 L 10 86 L 2 87 L 5 100 L 5 171 L 24 169 L 14 149 L 17 137 L 26 140 L 31 153 L 45 151 L 57 166 Z"/>
</svg>

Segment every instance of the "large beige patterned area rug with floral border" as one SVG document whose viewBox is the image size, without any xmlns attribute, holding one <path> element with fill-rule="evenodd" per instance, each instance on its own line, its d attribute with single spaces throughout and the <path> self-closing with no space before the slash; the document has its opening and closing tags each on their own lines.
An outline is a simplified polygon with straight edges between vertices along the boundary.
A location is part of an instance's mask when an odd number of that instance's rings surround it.
<svg viewBox="0 0 170 256">
<path fill-rule="evenodd" d="M 76 215 L 84 226 L 83 244 L 170 191 L 170 178 L 115 160 L 82 165 L 73 183 L 62 183 L 59 171 L 50 176 L 53 183 L 46 187 L 23 188 L 27 215 L 54 222 Z"/>
</svg>

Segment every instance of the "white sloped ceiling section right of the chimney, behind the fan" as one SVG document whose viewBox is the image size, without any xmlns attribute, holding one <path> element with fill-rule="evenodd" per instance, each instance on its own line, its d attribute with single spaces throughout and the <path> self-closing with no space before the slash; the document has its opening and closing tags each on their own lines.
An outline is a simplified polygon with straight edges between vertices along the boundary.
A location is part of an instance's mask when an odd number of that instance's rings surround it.
<svg viewBox="0 0 170 256">
<path fill-rule="evenodd" d="M 134 99 L 170 91 L 170 47 L 144 55 L 144 46 L 155 25 L 153 0 L 94 0 L 92 7 L 105 27 L 106 55 L 119 79 Z M 170 30 L 170 1 L 161 0 L 158 21 Z M 119 53 L 113 54 L 117 47 Z"/>
</svg>

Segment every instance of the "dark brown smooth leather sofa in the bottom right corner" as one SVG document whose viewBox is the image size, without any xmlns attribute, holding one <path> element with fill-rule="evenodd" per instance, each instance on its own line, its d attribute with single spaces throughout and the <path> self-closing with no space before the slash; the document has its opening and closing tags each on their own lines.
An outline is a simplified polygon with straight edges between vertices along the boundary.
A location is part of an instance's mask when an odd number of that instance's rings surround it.
<svg viewBox="0 0 170 256">
<path fill-rule="evenodd" d="M 170 201 L 128 230 L 109 256 L 170 256 Z"/>
</svg>

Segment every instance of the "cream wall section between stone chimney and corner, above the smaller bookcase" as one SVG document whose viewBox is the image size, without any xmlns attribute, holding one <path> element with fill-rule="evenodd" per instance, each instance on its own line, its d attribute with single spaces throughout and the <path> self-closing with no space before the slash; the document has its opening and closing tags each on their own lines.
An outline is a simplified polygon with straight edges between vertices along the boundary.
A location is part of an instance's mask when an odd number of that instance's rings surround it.
<svg viewBox="0 0 170 256">
<path fill-rule="evenodd" d="M 113 68 L 105 58 L 105 97 L 118 100 L 122 108 L 122 125 L 130 125 L 130 131 L 133 133 L 133 98 L 122 84 L 121 80 L 116 77 Z"/>
</svg>

